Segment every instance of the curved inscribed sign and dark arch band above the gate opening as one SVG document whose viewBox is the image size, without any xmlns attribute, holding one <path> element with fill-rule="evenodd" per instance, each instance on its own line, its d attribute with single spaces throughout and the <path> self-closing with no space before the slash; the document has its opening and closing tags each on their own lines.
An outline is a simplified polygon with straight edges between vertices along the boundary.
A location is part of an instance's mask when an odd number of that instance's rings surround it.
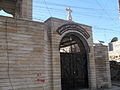
<svg viewBox="0 0 120 90">
<path fill-rule="evenodd" d="M 84 29 L 80 25 L 74 24 L 74 23 L 64 24 L 57 29 L 57 32 L 59 35 L 62 36 L 61 41 L 63 40 L 63 37 L 66 36 L 67 34 L 71 34 L 71 35 L 78 37 L 79 40 L 82 41 L 87 53 L 90 52 L 90 47 L 89 47 L 88 42 L 87 42 L 87 39 L 90 38 L 90 35 L 86 31 L 86 29 Z"/>
</svg>

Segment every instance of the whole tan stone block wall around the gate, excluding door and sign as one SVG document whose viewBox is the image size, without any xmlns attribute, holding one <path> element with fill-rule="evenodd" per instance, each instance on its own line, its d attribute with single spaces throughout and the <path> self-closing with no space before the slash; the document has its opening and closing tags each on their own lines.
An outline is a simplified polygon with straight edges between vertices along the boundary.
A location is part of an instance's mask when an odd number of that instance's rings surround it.
<svg viewBox="0 0 120 90">
<path fill-rule="evenodd" d="M 68 23 L 77 24 L 56 18 L 41 23 L 0 16 L 0 90 L 61 90 L 59 45 L 71 30 L 63 35 L 56 30 Z M 110 87 L 107 47 L 93 48 L 91 27 L 79 25 L 90 35 L 85 39 L 90 47 L 89 88 L 96 89 L 96 79 L 98 88 Z"/>
</svg>

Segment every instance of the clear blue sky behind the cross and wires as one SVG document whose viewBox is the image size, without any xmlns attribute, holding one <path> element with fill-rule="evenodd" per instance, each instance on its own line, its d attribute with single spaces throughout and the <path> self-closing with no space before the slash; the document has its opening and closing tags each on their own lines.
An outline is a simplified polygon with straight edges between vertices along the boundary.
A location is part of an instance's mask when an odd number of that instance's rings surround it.
<svg viewBox="0 0 120 90">
<path fill-rule="evenodd" d="M 67 7 L 73 10 L 73 21 L 93 27 L 94 41 L 120 39 L 118 0 L 33 0 L 33 20 L 43 22 L 51 16 L 66 20 Z"/>
</svg>

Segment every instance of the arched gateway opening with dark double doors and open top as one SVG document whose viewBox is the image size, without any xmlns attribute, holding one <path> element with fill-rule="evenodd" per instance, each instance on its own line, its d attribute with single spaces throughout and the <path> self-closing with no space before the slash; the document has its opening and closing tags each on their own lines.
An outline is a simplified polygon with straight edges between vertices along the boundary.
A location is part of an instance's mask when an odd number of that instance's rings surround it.
<svg viewBox="0 0 120 90">
<path fill-rule="evenodd" d="M 62 90 L 88 88 L 87 51 L 74 33 L 60 43 Z"/>
</svg>

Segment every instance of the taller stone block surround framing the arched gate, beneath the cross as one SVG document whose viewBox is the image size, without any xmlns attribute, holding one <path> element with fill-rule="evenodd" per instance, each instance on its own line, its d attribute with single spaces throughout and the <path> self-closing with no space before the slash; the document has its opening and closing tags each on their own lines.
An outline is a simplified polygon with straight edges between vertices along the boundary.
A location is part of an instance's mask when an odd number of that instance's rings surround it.
<svg viewBox="0 0 120 90">
<path fill-rule="evenodd" d="M 89 77 L 89 88 L 91 90 L 96 89 L 96 74 L 95 74 L 95 62 L 94 62 L 94 54 L 93 54 L 93 38 L 92 38 L 92 28 L 87 25 L 75 23 L 75 22 L 69 22 L 62 19 L 57 18 L 49 18 L 47 21 L 45 21 L 47 27 L 50 40 L 50 47 L 51 47 L 51 61 L 52 61 L 52 74 L 53 74 L 53 89 L 52 90 L 61 90 L 61 65 L 60 65 L 60 51 L 59 51 L 59 45 L 61 42 L 61 39 L 64 37 L 66 33 L 63 35 L 59 35 L 56 31 L 59 27 L 61 27 L 64 24 L 78 24 L 90 34 L 90 38 L 87 39 L 87 43 L 90 47 L 90 53 L 89 53 L 89 61 L 88 61 L 88 77 Z M 72 32 L 75 32 L 73 30 Z"/>
</svg>

